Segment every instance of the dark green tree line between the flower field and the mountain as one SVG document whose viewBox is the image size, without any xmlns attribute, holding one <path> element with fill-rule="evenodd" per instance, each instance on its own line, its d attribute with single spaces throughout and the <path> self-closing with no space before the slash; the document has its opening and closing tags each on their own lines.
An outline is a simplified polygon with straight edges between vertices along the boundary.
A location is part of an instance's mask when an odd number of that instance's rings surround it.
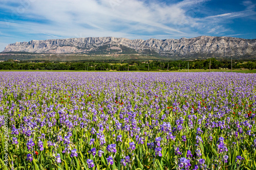
<svg viewBox="0 0 256 170">
<path fill-rule="evenodd" d="M 5 70 L 179 70 L 179 69 L 230 69 L 230 60 L 207 60 L 193 61 L 76 61 L 76 62 L 31 62 L 8 60 L 0 62 L 0 69 Z M 256 60 L 234 60 L 232 68 L 256 69 Z"/>
</svg>

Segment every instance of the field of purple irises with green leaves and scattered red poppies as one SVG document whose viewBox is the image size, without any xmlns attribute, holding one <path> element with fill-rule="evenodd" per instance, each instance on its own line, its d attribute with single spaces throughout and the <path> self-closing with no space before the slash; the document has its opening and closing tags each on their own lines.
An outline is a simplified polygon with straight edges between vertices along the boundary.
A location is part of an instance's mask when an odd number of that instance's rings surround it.
<svg viewBox="0 0 256 170">
<path fill-rule="evenodd" d="M 256 74 L 0 72 L 0 169 L 256 169 Z"/>
</svg>

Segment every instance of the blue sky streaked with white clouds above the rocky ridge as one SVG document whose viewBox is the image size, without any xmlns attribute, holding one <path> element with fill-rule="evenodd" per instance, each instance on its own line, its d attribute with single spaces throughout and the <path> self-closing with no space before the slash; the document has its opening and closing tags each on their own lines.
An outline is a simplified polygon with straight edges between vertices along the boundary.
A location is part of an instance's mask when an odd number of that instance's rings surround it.
<svg viewBox="0 0 256 170">
<path fill-rule="evenodd" d="M 30 40 L 256 39 L 255 0 L 0 0 L 0 52 Z"/>
</svg>

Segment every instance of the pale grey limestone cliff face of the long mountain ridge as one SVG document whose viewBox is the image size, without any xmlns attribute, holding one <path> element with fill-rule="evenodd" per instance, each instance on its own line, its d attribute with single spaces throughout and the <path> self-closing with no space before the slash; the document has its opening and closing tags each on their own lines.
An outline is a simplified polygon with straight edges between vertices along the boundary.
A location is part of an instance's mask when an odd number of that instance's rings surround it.
<svg viewBox="0 0 256 170">
<path fill-rule="evenodd" d="M 221 56 L 256 55 L 256 39 L 201 36 L 181 39 L 135 39 L 115 37 L 89 37 L 16 42 L 3 52 L 29 52 L 48 54 L 92 53 L 99 50 L 122 53 L 122 48 L 143 54 L 155 51 L 160 55 L 216 54 Z"/>
</svg>

